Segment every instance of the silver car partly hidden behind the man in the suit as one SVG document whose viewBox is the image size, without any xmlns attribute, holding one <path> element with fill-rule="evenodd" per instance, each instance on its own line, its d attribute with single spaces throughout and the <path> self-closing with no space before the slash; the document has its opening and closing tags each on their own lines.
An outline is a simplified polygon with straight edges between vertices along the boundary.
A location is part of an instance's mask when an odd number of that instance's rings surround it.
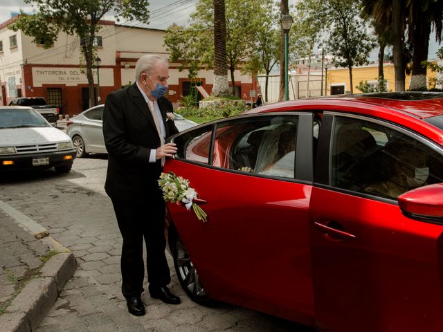
<svg viewBox="0 0 443 332">
<path fill-rule="evenodd" d="M 66 133 L 73 140 L 78 158 L 83 158 L 91 152 L 107 153 L 102 131 L 104 109 L 105 105 L 91 107 L 66 122 Z M 174 121 L 179 131 L 194 127 L 197 124 L 186 120 L 177 113 L 174 113 Z"/>
</svg>

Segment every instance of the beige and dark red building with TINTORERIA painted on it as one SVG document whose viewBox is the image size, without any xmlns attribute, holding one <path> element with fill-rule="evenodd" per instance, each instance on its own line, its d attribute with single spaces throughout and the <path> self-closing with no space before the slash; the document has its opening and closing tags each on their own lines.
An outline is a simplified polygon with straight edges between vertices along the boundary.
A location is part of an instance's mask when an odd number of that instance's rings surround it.
<svg viewBox="0 0 443 332">
<path fill-rule="evenodd" d="M 82 59 L 80 39 L 60 33 L 55 45 L 45 50 L 20 30 L 15 32 L 8 28 L 15 19 L 17 17 L 0 24 L 0 104 L 8 104 L 21 96 L 39 96 L 59 106 L 64 114 L 74 115 L 87 109 L 89 89 L 86 74 L 79 66 Z M 134 83 L 134 68 L 139 57 L 144 54 L 168 57 L 168 52 L 163 46 L 164 30 L 120 26 L 114 21 L 100 21 L 100 25 L 96 46 L 101 63 L 98 76 L 94 70 L 95 97 L 105 102 L 109 92 Z M 190 93 L 191 87 L 188 71 L 180 72 L 178 65 L 170 63 L 167 93 L 175 104 L 181 95 Z M 213 71 L 202 68 L 197 80 L 210 93 Z M 236 94 L 249 100 L 251 90 L 256 89 L 254 81 L 251 76 L 235 71 Z"/>
</svg>

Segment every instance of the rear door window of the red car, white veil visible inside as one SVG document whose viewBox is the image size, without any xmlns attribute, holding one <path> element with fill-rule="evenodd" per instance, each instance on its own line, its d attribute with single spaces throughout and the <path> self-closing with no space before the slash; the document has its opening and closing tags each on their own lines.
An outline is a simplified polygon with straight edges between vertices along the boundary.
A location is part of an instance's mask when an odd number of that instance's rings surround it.
<svg viewBox="0 0 443 332">
<path fill-rule="evenodd" d="M 217 125 L 213 166 L 294 177 L 297 116 L 261 116 Z"/>
</svg>

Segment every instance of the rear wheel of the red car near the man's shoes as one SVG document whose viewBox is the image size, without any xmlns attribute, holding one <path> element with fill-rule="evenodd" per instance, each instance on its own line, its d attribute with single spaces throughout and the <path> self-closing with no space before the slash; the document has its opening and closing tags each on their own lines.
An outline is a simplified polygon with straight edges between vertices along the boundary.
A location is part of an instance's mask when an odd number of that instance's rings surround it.
<svg viewBox="0 0 443 332">
<path fill-rule="evenodd" d="M 203 284 L 201 284 L 197 270 L 188 255 L 188 250 L 186 250 L 177 232 L 174 238 L 172 256 L 174 257 L 175 271 L 181 287 L 192 301 L 205 306 L 214 305 L 215 300 L 210 298 Z"/>
</svg>

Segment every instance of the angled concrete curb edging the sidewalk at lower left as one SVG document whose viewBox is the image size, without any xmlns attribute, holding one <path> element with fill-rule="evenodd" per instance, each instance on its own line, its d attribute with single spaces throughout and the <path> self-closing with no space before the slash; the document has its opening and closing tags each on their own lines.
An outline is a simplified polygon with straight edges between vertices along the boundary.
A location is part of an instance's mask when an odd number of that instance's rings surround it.
<svg viewBox="0 0 443 332">
<path fill-rule="evenodd" d="M 0 209 L 51 250 L 60 252 L 46 261 L 40 270 L 40 277 L 30 280 L 12 300 L 8 312 L 0 315 L 2 332 L 33 332 L 53 307 L 64 284 L 72 277 L 77 262 L 73 252 L 49 237 L 42 225 L 2 201 Z"/>
</svg>

